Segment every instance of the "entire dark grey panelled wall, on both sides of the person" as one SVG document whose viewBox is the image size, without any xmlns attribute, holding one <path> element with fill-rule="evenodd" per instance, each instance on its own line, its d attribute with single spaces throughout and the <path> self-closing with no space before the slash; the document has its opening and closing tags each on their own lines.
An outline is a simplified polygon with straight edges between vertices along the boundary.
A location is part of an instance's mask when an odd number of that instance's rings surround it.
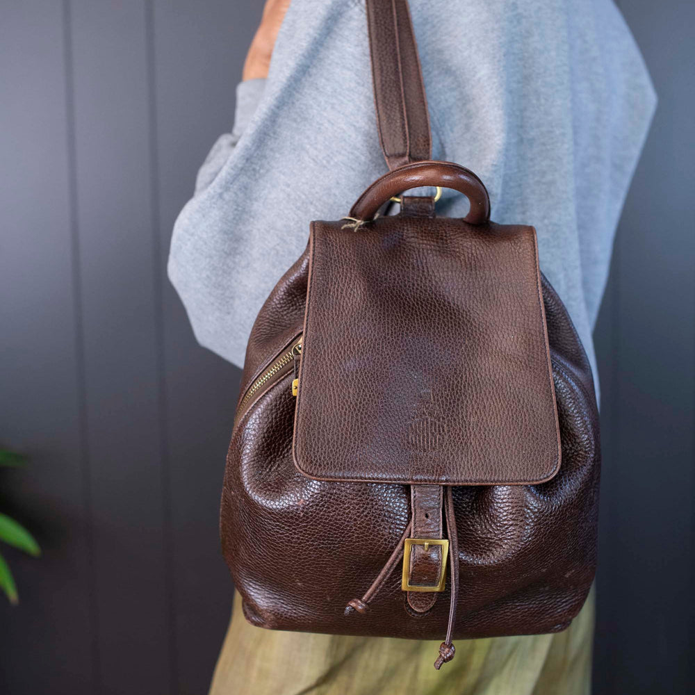
<svg viewBox="0 0 695 695">
<path fill-rule="evenodd" d="M 686 692 L 693 654 L 691 3 L 621 3 L 660 108 L 596 332 L 596 692 Z M 200 694 L 229 618 L 217 514 L 238 372 L 167 284 L 261 12 L 240 0 L 0 1 L 0 692 Z M 690 680 L 688 680 L 690 678 Z"/>
</svg>

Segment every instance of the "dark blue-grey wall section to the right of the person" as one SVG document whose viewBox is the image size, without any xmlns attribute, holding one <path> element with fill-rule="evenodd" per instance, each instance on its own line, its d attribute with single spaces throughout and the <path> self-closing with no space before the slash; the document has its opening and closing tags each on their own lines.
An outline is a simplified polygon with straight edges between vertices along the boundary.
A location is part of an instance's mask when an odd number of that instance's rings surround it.
<svg viewBox="0 0 695 695">
<path fill-rule="evenodd" d="M 599 580 L 597 692 L 692 689 L 695 121 L 692 3 L 621 3 L 660 105 L 614 268 L 610 528 Z M 602 582 L 603 587 L 602 587 Z"/>
</svg>

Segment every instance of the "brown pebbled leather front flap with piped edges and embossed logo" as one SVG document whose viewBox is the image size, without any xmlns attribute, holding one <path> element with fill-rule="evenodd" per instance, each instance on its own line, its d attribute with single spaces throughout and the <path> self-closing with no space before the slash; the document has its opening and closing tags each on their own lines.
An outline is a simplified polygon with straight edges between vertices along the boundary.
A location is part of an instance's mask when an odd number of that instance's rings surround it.
<svg viewBox="0 0 695 695">
<path fill-rule="evenodd" d="M 318 480 L 532 484 L 560 442 L 532 227 L 314 222 L 295 415 Z"/>
</svg>

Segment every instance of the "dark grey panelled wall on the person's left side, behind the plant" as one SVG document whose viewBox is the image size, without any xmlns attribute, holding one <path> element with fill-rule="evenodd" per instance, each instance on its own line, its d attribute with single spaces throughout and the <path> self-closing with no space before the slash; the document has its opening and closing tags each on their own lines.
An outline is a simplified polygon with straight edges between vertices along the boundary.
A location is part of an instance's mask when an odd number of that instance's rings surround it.
<svg viewBox="0 0 695 695">
<path fill-rule="evenodd" d="M 6 553 L 2 693 L 205 692 L 238 373 L 195 344 L 165 258 L 260 12 L 1 3 L 0 441 L 31 465 L 0 471 L 0 509 L 44 547 Z"/>
</svg>

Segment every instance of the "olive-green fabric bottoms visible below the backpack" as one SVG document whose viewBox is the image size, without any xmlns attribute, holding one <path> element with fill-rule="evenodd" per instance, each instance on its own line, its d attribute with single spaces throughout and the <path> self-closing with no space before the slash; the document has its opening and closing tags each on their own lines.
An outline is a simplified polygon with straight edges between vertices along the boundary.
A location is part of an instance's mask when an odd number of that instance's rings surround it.
<svg viewBox="0 0 695 695">
<path fill-rule="evenodd" d="M 278 632 L 250 626 L 234 598 L 210 695 L 587 695 L 594 590 L 564 632 L 439 641 Z"/>
</svg>

